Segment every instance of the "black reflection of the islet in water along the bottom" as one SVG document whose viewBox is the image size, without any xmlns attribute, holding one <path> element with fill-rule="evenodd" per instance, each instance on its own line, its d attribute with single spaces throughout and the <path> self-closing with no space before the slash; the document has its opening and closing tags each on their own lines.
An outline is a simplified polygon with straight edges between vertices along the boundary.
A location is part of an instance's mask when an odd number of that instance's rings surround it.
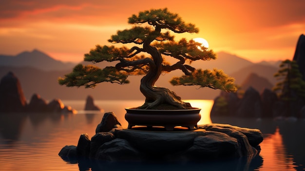
<svg viewBox="0 0 305 171">
<path fill-rule="evenodd" d="M 262 166 L 263 159 L 257 155 L 249 160 L 246 157 L 221 161 L 197 162 L 107 162 L 86 158 L 63 157 L 69 164 L 78 163 L 79 171 L 254 171 Z M 250 162 L 249 162 L 250 161 Z"/>
</svg>

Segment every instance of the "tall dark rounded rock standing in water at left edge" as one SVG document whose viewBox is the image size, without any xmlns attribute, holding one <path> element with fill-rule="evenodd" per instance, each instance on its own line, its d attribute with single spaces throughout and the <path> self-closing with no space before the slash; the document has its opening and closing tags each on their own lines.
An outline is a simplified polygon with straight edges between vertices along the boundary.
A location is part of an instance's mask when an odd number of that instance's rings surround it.
<svg viewBox="0 0 305 171">
<path fill-rule="evenodd" d="M 0 112 L 24 112 L 26 99 L 19 79 L 9 72 L 0 82 Z"/>
</svg>

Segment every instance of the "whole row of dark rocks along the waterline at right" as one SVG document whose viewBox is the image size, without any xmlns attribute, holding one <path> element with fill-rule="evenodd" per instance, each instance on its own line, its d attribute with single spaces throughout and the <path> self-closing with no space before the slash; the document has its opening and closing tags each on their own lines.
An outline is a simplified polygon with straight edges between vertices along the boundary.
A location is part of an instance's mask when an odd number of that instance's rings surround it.
<svg viewBox="0 0 305 171">
<path fill-rule="evenodd" d="M 264 89 L 260 95 L 255 89 L 250 87 L 241 98 L 234 94 L 221 93 L 217 96 L 214 100 L 210 116 L 269 117 L 277 119 L 302 117 L 301 109 L 304 106 L 302 100 L 290 102 L 290 108 L 288 108 L 287 102 L 279 100 L 277 95 L 269 89 Z M 288 111 L 288 109 L 290 110 Z"/>
</svg>

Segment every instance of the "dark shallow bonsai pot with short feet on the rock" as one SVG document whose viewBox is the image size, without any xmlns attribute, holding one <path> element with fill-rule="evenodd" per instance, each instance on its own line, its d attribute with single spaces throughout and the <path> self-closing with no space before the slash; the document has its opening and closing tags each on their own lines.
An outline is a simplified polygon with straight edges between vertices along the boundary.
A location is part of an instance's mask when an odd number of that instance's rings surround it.
<svg viewBox="0 0 305 171">
<path fill-rule="evenodd" d="M 166 131 L 172 131 L 175 126 L 187 127 L 193 130 L 200 120 L 200 108 L 182 110 L 146 110 L 126 108 L 125 119 L 128 129 L 133 126 L 162 126 Z"/>
</svg>

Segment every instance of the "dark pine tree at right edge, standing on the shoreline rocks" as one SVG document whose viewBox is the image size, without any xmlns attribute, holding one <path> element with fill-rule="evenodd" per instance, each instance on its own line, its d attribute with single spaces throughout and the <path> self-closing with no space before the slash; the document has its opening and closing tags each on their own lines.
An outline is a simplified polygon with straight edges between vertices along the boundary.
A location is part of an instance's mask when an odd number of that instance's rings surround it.
<svg viewBox="0 0 305 171">
<path fill-rule="evenodd" d="M 305 98 L 305 81 L 294 60 L 284 60 L 280 69 L 274 74 L 279 82 L 273 87 L 273 91 L 285 101 L 294 101 L 298 97 Z"/>
</svg>

